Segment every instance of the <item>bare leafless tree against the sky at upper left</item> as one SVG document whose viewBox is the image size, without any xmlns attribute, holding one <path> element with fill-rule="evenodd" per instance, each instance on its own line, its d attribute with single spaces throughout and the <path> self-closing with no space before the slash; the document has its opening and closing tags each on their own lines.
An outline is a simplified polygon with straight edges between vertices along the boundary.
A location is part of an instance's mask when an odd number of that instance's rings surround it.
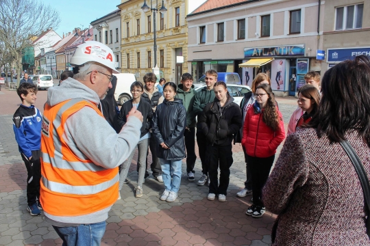
<svg viewBox="0 0 370 246">
<path fill-rule="evenodd" d="M 0 40 L 14 57 L 17 81 L 22 69 L 22 51 L 32 46 L 32 38 L 60 23 L 59 12 L 37 0 L 0 0 Z"/>
</svg>

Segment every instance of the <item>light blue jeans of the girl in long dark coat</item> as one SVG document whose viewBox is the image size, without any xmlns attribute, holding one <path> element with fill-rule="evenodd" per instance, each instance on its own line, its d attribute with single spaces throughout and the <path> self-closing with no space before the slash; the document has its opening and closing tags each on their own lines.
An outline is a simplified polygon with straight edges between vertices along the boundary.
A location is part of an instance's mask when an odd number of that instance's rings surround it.
<svg viewBox="0 0 370 246">
<path fill-rule="evenodd" d="M 164 188 L 177 193 L 180 189 L 182 160 L 160 160 Z M 171 174 L 173 176 L 171 180 Z"/>
</svg>

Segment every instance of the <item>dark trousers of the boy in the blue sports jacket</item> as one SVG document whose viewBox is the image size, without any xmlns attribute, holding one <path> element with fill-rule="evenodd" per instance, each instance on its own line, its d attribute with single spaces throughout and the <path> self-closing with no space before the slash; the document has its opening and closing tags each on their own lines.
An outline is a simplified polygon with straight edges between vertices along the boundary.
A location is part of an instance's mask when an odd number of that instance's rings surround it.
<svg viewBox="0 0 370 246">
<path fill-rule="evenodd" d="M 41 162 L 40 150 L 32 150 L 32 159 L 28 160 L 25 154 L 21 153 L 27 169 L 27 203 L 32 206 L 40 198 L 40 179 L 41 179 Z"/>
</svg>

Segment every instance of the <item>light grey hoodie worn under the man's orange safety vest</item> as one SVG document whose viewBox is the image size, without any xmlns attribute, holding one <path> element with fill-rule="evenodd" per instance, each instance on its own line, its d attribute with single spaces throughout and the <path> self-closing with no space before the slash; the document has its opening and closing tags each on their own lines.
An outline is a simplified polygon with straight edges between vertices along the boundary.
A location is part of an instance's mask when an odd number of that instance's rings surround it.
<svg viewBox="0 0 370 246">
<path fill-rule="evenodd" d="M 83 98 L 95 105 L 99 105 L 100 102 L 96 92 L 79 81 L 68 78 L 60 86 L 49 88 L 46 103 L 54 107 L 60 102 L 75 98 Z M 94 109 L 84 107 L 66 119 L 63 140 L 76 156 L 83 156 L 84 159 L 89 159 L 97 166 L 112 169 L 121 165 L 136 148 L 140 139 L 141 125 L 138 118 L 131 116 L 117 134 Z M 42 152 L 47 152 L 47 150 L 42 150 Z M 68 204 L 68 206 L 73 206 L 73 204 Z M 110 208 L 111 206 L 108 206 L 93 214 L 79 217 L 66 216 L 63 219 L 53 217 L 46 212 L 45 216 L 53 221 L 67 224 L 98 223 L 108 218 Z M 60 210 L 63 210 L 62 206 Z"/>
</svg>

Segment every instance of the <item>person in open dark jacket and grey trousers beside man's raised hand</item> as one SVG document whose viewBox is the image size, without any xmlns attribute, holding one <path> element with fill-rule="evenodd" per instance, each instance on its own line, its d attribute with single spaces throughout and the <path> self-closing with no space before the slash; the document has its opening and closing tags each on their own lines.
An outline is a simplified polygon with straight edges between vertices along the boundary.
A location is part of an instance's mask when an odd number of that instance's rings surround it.
<svg viewBox="0 0 370 246">
<path fill-rule="evenodd" d="M 147 169 L 147 164 L 145 160 L 147 159 L 147 152 L 149 148 L 149 139 L 150 139 L 149 129 L 151 128 L 151 118 L 153 116 L 153 110 L 151 109 L 151 105 L 149 104 L 149 102 L 141 100 L 141 95 L 144 92 L 143 83 L 135 81 L 134 83 L 132 83 L 130 90 L 132 94 L 132 100 L 128 100 L 122 105 L 121 111 L 119 112 L 118 122 L 120 128 L 122 128 L 126 124 L 127 114 L 133 107 L 136 107 L 136 109 L 141 112 L 144 118 L 143 126 L 141 126 L 140 130 L 141 131 L 140 140 L 137 145 L 139 169 L 138 169 L 138 185 L 136 187 L 135 193 L 136 197 L 142 197 L 144 176 L 145 171 Z M 123 183 L 125 182 L 125 179 L 127 177 L 127 173 L 128 170 L 130 169 L 132 157 L 134 156 L 135 150 L 136 148 L 132 151 L 127 160 L 121 165 L 121 172 L 119 174 L 119 191 L 121 191 Z M 119 199 L 121 199 L 121 193 L 119 193 Z"/>
</svg>

